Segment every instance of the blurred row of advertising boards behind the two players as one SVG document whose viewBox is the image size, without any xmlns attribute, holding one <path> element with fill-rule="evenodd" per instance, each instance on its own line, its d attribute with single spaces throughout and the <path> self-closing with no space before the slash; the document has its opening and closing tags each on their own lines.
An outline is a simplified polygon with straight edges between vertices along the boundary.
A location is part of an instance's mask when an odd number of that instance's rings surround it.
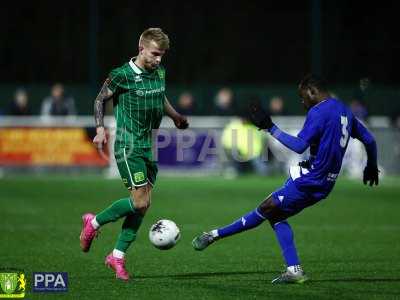
<svg viewBox="0 0 400 300">
<path fill-rule="evenodd" d="M 267 176 L 287 173 L 291 165 L 306 158 L 307 153 L 297 155 L 263 134 L 260 151 L 256 155 L 242 151 L 237 159 L 239 163 L 235 162 L 227 152 L 232 148 L 240 152 L 243 144 L 251 145 L 254 150 L 258 141 L 257 130 L 246 128 L 251 131 L 249 137 L 229 126 L 238 120 L 237 117 L 193 116 L 189 118 L 190 130 L 177 131 L 170 120 L 164 119 L 154 136 L 154 157 L 159 162 L 160 174 L 213 174 L 235 178 L 244 171 Z M 304 117 L 276 116 L 274 121 L 285 131 L 296 134 Z M 391 126 L 387 117 L 369 117 L 367 121 L 377 139 L 382 175 L 399 174 L 400 130 Z M 110 137 L 108 148 L 100 154 L 91 142 L 95 135 L 91 116 L 3 117 L 0 119 L 0 172 L 3 175 L 61 172 L 116 177 L 113 117 L 106 118 L 106 125 Z M 226 143 L 223 137 L 226 130 L 228 135 L 238 134 L 235 136 L 237 144 Z M 255 135 L 251 136 L 253 133 Z M 365 162 L 361 143 L 350 140 L 342 173 L 359 178 Z"/>
</svg>

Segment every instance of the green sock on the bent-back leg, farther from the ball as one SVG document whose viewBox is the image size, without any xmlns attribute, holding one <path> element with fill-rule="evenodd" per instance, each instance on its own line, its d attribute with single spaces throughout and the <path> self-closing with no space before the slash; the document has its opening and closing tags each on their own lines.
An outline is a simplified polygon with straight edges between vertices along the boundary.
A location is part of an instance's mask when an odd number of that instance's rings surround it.
<svg viewBox="0 0 400 300">
<path fill-rule="evenodd" d="M 110 222 L 115 222 L 121 217 L 133 215 L 134 213 L 135 213 L 135 208 L 132 205 L 131 199 L 123 198 L 115 201 L 105 210 L 97 214 L 96 221 L 101 226 Z"/>
</svg>

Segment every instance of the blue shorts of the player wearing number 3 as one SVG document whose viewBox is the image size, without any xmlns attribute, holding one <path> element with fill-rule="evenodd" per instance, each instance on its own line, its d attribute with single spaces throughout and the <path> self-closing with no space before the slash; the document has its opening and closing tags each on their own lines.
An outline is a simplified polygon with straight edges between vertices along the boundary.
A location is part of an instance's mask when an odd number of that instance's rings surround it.
<svg viewBox="0 0 400 300">
<path fill-rule="evenodd" d="M 315 199 L 308 193 L 299 191 L 292 178 L 289 178 L 283 187 L 272 193 L 272 200 L 285 215 L 290 217 L 321 199 Z"/>
</svg>

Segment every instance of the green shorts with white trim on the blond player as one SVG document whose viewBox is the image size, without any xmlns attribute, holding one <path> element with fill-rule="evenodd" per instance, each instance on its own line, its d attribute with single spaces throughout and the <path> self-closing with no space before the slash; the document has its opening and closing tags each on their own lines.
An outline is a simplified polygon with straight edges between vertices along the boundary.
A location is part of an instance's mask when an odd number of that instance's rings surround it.
<svg viewBox="0 0 400 300">
<path fill-rule="evenodd" d="M 150 184 L 154 186 L 157 177 L 157 164 L 153 161 L 151 148 L 114 149 L 115 160 L 122 181 L 128 189 Z"/>
</svg>

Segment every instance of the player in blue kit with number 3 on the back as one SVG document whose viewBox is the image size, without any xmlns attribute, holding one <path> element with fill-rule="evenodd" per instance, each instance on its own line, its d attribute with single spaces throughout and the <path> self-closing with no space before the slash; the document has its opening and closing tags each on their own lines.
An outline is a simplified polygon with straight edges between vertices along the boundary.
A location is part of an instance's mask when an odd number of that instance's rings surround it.
<svg viewBox="0 0 400 300">
<path fill-rule="evenodd" d="M 303 283 L 308 279 L 300 265 L 287 218 L 329 195 L 339 175 L 350 137 L 360 140 L 367 152 L 364 184 L 378 185 L 379 180 L 374 137 L 346 105 L 329 95 L 324 80 L 307 75 L 300 82 L 298 92 L 308 113 L 297 137 L 281 131 L 260 105 L 251 106 L 251 119 L 255 126 L 268 131 L 299 154 L 310 148 L 309 159 L 290 168 L 290 177 L 284 186 L 268 196 L 255 210 L 228 226 L 204 232 L 192 242 L 195 250 L 204 250 L 219 239 L 255 228 L 268 220 L 287 265 L 285 272 L 272 283 Z"/>
</svg>

